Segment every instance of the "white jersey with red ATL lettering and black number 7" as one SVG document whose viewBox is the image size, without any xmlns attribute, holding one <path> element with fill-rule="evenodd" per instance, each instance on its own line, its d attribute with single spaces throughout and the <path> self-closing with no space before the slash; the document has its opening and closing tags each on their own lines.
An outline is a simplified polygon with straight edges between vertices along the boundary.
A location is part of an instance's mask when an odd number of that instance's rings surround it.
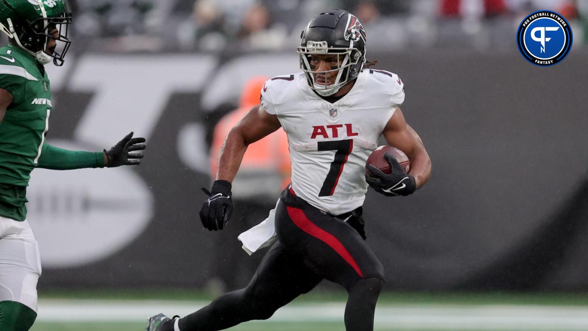
<svg viewBox="0 0 588 331">
<path fill-rule="evenodd" d="M 330 103 L 299 72 L 266 81 L 261 94 L 262 107 L 288 134 L 296 195 L 332 215 L 362 206 L 366 160 L 405 98 L 400 78 L 364 69 L 348 94 Z"/>
</svg>

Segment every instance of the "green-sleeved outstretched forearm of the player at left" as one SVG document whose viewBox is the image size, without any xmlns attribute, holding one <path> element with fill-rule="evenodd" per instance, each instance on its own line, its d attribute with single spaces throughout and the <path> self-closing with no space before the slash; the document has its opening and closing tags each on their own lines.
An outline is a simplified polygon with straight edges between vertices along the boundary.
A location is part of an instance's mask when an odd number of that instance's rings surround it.
<svg viewBox="0 0 588 331">
<path fill-rule="evenodd" d="M 38 168 L 52 170 L 74 170 L 101 168 L 105 166 L 104 153 L 70 151 L 45 143 L 39 157 Z"/>
</svg>

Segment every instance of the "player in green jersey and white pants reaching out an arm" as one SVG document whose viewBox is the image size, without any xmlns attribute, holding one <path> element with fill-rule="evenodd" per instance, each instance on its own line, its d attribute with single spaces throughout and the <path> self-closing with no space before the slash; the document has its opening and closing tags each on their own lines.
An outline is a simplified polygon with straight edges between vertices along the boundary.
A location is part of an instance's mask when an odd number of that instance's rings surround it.
<svg viewBox="0 0 588 331">
<path fill-rule="evenodd" d="M 34 168 L 68 170 L 139 164 L 143 138 L 132 133 L 99 153 L 69 151 L 45 141 L 51 84 L 43 67 L 64 63 L 71 41 L 65 0 L 0 0 L 0 330 L 28 330 L 35 321 L 41 275 L 38 244 L 26 220 L 26 186 Z"/>
</svg>

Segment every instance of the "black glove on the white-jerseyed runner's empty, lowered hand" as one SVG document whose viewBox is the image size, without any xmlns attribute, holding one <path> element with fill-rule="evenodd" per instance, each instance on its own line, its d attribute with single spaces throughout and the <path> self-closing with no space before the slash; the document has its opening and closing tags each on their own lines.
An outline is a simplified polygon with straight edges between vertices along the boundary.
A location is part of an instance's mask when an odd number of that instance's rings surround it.
<svg viewBox="0 0 588 331">
<path fill-rule="evenodd" d="M 226 180 L 215 180 L 210 192 L 202 187 L 208 199 L 204 201 L 200 209 L 200 220 L 209 231 L 222 230 L 229 221 L 230 214 L 233 213 L 230 188 L 231 184 Z"/>
</svg>

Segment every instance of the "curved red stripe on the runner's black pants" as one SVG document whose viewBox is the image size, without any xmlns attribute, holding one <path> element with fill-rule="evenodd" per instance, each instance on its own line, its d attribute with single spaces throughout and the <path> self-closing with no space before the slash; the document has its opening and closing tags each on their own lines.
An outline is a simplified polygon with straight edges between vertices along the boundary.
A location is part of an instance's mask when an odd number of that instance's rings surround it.
<svg viewBox="0 0 588 331">
<path fill-rule="evenodd" d="M 288 215 L 290 216 L 290 219 L 292 219 L 294 224 L 296 224 L 300 230 L 305 231 L 306 233 L 310 234 L 310 236 L 313 236 L 316 239 L 319 239 L 328 244 L 329 247 L 331 247 L 337 252 L 337 254 L 343 257 L 343 259 L 347 261 L 347 263 L 349 263 L 353 269 L 355 269 L 359 276 L 363 278 L 362 270 L 359 270 L 358 264 L 355 263 L 355 260 L 353 260 L 351 254 L 349 254 L 349 251 L 345 248 L 345 246 L 343 246 L 339 239 L 327 231 L 320 229 L 320 227 L 316 226 L 315 223 L 312 223 L 312 221 L 306 217 L 302 209 L 289 206 L 286 206 L 286 209 L 288 209 Z"/>
</svg>

